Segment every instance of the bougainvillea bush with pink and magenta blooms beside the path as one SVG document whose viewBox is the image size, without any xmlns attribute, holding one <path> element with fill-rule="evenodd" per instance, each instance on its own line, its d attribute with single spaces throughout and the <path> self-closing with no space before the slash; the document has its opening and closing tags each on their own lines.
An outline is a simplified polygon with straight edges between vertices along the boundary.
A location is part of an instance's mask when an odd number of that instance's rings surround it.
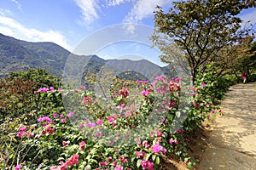
<svg viewBox="0 0 256 170">
<path fill-rule="evenodd" d="M 16 127 L 15 168 L 154 169 L 167 152 L 184 159 L 184 133 L 215 114 L 208 86 L 155 76 L 137 81 L 136 90 L 112 88 L 108 99 L 84 87 L 38 88 L 37 123 Z"/>
</svg>

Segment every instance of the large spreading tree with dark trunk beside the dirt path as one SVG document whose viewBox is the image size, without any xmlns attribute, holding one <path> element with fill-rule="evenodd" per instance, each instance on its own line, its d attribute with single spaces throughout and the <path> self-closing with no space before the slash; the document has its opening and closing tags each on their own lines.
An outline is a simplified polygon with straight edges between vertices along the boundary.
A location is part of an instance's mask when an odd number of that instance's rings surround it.
<svg viewBox="0 0 256 170">
<path fill-rule="evenodd" d="M 189 0 L 173 3 L 168 13 L 157 7 L 152 39 L 163 53 L 160 59 L 172 64 L 183 56 L 195 82 L 200 66 L 214 61 L 221 49 L 235 44 L 250 31 L 241 29 L 242 20 L 236 15 L 255 6 L 253 0 Z M 182 56 L 177 55 L 176 45 Z"/>
</svg>

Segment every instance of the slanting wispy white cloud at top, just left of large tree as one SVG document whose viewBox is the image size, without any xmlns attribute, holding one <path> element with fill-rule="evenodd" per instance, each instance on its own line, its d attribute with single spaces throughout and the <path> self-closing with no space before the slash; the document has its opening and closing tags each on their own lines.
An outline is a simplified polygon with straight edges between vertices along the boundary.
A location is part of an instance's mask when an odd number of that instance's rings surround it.
<svg viewBox="0 0 256 170">
<path fill-rule="evenodd" d="M 129 14 L 125 17 L 125 23 L 137 23 L 151 16 L 157 5 L 163 6 L 170 3 L 166 0 L 137 0 Z"/>
</svg>

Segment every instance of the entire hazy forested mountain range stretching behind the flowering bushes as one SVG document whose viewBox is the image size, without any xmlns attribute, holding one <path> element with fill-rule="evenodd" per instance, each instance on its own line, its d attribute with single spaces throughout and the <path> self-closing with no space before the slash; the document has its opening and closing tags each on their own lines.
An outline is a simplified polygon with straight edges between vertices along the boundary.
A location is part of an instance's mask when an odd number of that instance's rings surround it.
<svg viewBox="0 0 256 170">
<path fill-rule="evenodd" d="M 70 59 L 69 56 L 72 56 L 74 62 L 68 67 L 67 59 Z M 81 65 L 81 62 L 79 63 L 81 58 L 87 59 L 86 65 L 82 65 L 84 71 L 93 73 L 101 71 L 103 65 L 112 65 L 113 67 L 119 67 L 122 71 L 130 69 L 145 74 L 150 71 L 155 74 L 161 71 L 170 74 L 168 67 L 160 67 L 144 59 L 138 61 L 129 59 L 105 60 L 96 55 L 79 56 L 72 54 L 54 42 L 26 42 L 0 33 L 0 77 L 8 75 L 11 71 L 24 71 L 29 68 L 45 68 L 50 74 L 61 77 L 66 67 Z"/>
</svg>

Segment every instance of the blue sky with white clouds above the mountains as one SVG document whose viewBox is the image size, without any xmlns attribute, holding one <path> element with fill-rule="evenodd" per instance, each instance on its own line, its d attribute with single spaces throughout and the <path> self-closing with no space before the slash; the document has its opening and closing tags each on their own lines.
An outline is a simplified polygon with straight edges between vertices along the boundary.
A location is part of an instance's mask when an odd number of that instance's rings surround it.
<svg viewBox="0 0 256 170">
<path fill-rule="evenodd" d="M 169 8 L 171 4 L 168 0 L 1 0 L 0 33 L 30 42 L 55 42 L 73 52 L 84 38 L 108 26 L 132 23 L 153 29 L 155 6 Z M 243 20 L 253 23 L 255 16 L 255 8 L 241 14 Z M 129 26 L 127 30 L 132 31 Z M 101 41 L 101 37 L 97 38 Z M 160 53 L 149 46 L 114 42 L 105 44 L 97 54 L 102 58 L 118 58 L 127 54 L 143 56 L 148 51 L 146 55 L 159 62 Z"/>
</svg>

